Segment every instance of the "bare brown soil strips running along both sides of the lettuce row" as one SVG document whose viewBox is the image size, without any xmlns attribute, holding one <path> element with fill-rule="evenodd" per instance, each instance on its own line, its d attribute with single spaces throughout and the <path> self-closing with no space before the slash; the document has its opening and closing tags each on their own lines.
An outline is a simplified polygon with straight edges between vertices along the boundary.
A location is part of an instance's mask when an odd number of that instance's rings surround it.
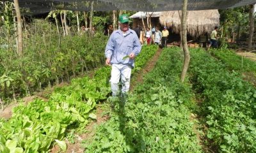
<svg viewBox="0 0 256 153">
<path fill-rule="evenodd" d="M 141 69 L 140 73 L 136 73 L 136 75 L 134 75 L 134 77 L 132 78 L 132 82 L 131 82 L 131 91 L 134 89 L 136 84 L 143 83 L 143 76 L 154 68 L 161 52 L 162 52 L 162 49 L 159 48 L 159 50 L 157 50 L 154 57 L 152 57 L 148 61 L 145 68 Z M 90 77 L 92 77 L 92 75 L 93 75 L 93 73 L 90 73 Z M 63 86 L 63 85 L 67 85 L 67 84 L 61 84 L 60 86 Z M 58 86 L 59 85 L 57 85 L 57 87 Z M 47 90 L 47 93 L 39 92 L 35 96 L 29 96 L 29 97 L 23 98 L 22 101 L 24 101 L 23 103 L 25 105 L 27 105 L 29 102 L 33 101 L 33 99 L 35 99 L 35 98 L 40 98 L 40 99 L 43 99 L 44 101 L 48 101 L 47 98 L 44 98 L 44 95 L 49 94 L 49 92 L 53 92 L 53 91 L 54 91 L 54 88 L 52 87 L 51 89 Z M 12 104 L 6 106 L 6 108 L 4 108 L 4 110 L 0 112 L 0 117 L 4 117 L 5 119 L 10 119 L 10 117 L 12 116 L 12 108 L 15 106 L 18 106 L 18 105 L 19 105 L 19 103 L 12 103 Z M 66 152 L 68 152 L 68 153 L 84 152 L 84 149 L 81 146 L 81 142 L 83 140 L 92 140 L 93 135 L 95 135 L 95 128 L 97 126 L 99 126 L 100 124 L 106 122 L 106 120 L 109 119 L 108 115 L 102 115 L 105 112 L 104 112 L 104 110 L 102 110 L 102 108 L 100 108 L 100 106 L 97 106 L 95 112 L 97 115 L 97 120 L 90 122 L 85 127 L 87 132 L 82 135 L 76 135 L 77 138 L 76 138 L 75 143 L 70 143 L 70 142 L 66 141 L 66 143 L 67 143 Z M 56 153 L 56 152 L 60 152 L 60 147 L 58 147 L 58 145 L 54 145 L 54 147 L 52 147 L 52 149 L 51 149 L 51 153 Z"/>
</svg>

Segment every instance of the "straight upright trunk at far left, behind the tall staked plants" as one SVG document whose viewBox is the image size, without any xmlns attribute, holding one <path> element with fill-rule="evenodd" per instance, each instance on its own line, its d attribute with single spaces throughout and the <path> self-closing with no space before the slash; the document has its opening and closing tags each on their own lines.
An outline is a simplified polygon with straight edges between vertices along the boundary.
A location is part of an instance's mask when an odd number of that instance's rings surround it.
<svg viewBox="0 0 256 153">
<path fill-rule="evenodd" d="M 18 25 L 18 55 L 22 56 L 23 54 L 23 43 L 22 43 L 22 22 L 21 22 L 21 17 L 20 17 L 20 7 L 19 7 L 19 1 L 14 0 L 14 6 L 15 6 L 15 11 L 16 11 L 16 16 L 17 16 L 17 25 Z"/>
</svg>

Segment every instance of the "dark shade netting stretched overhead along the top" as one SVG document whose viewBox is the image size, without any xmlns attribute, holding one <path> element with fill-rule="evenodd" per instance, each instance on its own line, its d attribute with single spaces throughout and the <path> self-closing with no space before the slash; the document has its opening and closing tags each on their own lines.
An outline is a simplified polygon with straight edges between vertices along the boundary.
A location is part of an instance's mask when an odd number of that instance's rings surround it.
<svg viewBox="0 0 256 153">
<path fill-rule="evenodd" d="M 182 8 L 182 0 L 19 0 L 20 8 L 30 13 L 51 10 L 90 11 L 92 3 L 95 11 L 172 11 Z M 188 10 L 234 8 L 247 4 L 255 4 L 255 0 L 188 0 Z"/>
</svg>

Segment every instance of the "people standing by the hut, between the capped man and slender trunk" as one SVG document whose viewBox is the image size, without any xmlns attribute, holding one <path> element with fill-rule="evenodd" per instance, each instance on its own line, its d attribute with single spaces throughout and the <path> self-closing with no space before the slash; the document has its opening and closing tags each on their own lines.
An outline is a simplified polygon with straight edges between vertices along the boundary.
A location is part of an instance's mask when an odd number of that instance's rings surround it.
<svg viewBox="0 0 256 153">
<path fill-rule="evenodd" d="M 140 26 L 137 26 L 134 29 L 134 31 L 136 32 L 138 38 L 140 38 L 140 33 L 141 33 Z M 151 30 L 149 27 L 147 27 L 143 37 L 145 38 L 147 45 L 154 43 L 156 45 L 161 45 L 162 47 L 166 47 L 168 36 L 169 36 L 169 31 L 167 27 L 164 27 L 162 32 L 159 30 L 159 27 L 153 27 Z"/>
</svg>

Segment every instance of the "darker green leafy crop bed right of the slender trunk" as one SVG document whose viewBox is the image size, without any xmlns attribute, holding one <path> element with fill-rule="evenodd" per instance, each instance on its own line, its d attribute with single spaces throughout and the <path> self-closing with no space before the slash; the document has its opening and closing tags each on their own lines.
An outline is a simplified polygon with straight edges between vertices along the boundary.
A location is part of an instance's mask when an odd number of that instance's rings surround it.
<svg viewBox="0 0 256 153">
<path fill-rule="evenodd" d="M 191 50 L 191 59 L 191 82 L 204 100 L 200 113 L 209 145 L 218 152 L 255 152 L 255 87 L 204 50 Z"/>
</svg>

